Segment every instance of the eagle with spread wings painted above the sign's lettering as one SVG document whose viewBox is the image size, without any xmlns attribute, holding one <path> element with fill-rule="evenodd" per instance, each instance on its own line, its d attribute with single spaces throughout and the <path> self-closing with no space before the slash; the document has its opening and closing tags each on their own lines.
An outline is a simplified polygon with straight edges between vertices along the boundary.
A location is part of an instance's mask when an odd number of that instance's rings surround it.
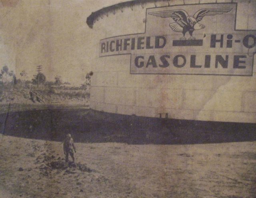
<svg viewBox="0 0 256 198">
<path fill-rule="evenodd" d="M 149 12 L 153 16 L 168 18 L 171 17 L 175 22 L 170 23 L 170 28 L 175 32 L 182 32 L 183 37 L 180 40 L 186 40 L 185 34 L 189 32 L 190 38 L 189 40 L 194 40 L 192 36 L 194 30 L 200 30 L 205 28 L 203 24 L 199 24 L 200 20 L 204 18 L 204 16 L 214 16 L 217 14 L 224 14 L 230 12 L 232 8 L 208 8 L 198 10 L 194 16 L 188 16 L 188 13 L 185 10 L 166 10 L 159 12 Z"/>
</svg>

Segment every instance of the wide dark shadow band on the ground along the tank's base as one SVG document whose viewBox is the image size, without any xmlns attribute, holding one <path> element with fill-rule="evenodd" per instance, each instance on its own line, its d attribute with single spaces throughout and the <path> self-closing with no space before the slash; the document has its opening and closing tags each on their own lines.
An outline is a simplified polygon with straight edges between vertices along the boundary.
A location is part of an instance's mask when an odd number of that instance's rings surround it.
<svg viewBox="0 0 256 198">
<path fill-rule="evenodd" d="M 0 115 L 1 133 L 15 137 L 128 144 L 201 144 L 256 141 L 255 123 L 190 121 L 120 115 L 92 109 L 40 109 Z"/>
</svg>

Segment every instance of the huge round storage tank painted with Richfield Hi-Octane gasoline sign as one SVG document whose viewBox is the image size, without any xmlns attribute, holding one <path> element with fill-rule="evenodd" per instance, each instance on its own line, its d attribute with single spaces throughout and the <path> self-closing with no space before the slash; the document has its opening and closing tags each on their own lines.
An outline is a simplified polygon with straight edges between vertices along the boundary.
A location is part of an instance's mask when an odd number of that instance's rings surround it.
<svg viewBox="0 0 256 198">
<path fill-rule="evenodd" d="M 256 123 L 256 1 L 122 1 L 87 24 L 91 109 Z"/>
</svg>

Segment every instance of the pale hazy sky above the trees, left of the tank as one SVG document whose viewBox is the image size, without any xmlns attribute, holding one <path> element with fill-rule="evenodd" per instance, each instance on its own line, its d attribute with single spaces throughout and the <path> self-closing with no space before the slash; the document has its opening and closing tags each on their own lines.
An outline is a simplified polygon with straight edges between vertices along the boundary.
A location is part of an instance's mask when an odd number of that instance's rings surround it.
<svg viewBox="0 0 256 198">
<path fill-rule="evenodd" d="M 0 0 L 0 68 L 31 80 L 42 65 L 46 79 L 80 85 L 97 58 L 98 38 L 87 17 L 120 0 Z M 95 53 L 93 52 L 95 51 Z M 26 71 L 26 77 L 20 73 Z"/>
</svg>

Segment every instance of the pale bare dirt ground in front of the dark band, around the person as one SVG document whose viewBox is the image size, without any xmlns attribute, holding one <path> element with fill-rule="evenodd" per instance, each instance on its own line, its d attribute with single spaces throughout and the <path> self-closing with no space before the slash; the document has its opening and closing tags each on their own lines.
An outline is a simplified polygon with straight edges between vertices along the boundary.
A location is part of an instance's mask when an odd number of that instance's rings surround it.
<svg viewBox="0 0 256 198">
<path fill-rule="evenodd" d="M 0 197 L 256 197 L 255 141 L 75 145 L 79 168 L 54 169 L 64 163 L 62 143 L 0 135 Z"/>
</svg>

